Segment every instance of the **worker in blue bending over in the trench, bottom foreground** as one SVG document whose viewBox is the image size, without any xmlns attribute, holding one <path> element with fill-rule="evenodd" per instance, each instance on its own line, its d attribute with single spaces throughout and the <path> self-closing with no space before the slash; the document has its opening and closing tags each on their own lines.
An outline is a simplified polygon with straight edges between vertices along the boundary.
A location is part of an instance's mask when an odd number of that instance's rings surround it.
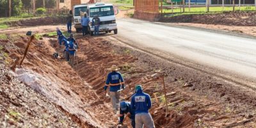
<svg viewBox="0 0 256 128">
<path fill-rule="evenodd" d="M 131 108 L 131 102 L 120 102 L 120 120 L 118 124 L 123 125 L 125 114 L 131 119 L 132 128 L 135 128 L 135 110 Z"/>
</svg>

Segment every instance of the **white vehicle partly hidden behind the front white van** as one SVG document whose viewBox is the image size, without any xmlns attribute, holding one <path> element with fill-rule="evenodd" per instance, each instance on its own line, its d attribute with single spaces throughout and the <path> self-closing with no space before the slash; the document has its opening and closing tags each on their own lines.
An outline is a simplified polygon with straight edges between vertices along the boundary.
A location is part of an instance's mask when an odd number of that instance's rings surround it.
<svg viewBox="0 0 256 128">
<path fill-rule="evenodd" d="M 74 25 L 76 28 L 76 32 L 78 33 L 79 31 L 82 30 L 82 25 L 81 25 L 81 15 L 80 12 L 86 12 L 88 13 L 88 4 L 79 4 L 74 6 Z"/>
</svg>

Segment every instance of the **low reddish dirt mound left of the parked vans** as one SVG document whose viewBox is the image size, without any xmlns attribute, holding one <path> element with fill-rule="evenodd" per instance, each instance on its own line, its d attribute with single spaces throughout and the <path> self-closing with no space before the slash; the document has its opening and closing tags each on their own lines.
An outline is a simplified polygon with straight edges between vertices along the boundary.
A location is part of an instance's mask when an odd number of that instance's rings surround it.
<svg viewBox="0 0 256 128">
<path fill-rule="evenodd" d="M 51 16 L 51 17 L 40 17 L 31 18 L 26 20 L 19 20 L 13 22 L 6 22 L 9 26 L 44 26 L 54 24 L 66 24 L 66 17 L 64 16 Z"/>
</svg>

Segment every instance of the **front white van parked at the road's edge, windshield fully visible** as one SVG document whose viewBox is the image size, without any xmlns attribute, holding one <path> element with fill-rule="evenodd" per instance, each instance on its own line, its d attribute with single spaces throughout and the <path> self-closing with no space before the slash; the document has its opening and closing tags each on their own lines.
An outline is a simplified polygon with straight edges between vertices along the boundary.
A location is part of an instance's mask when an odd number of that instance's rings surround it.
<svg viewBox="0 0 256 128">
<path fill-rule="evenodd" d="M 115 7 L 113 4 L 95 3 L 88 6 L 88 16 L 90 17 L 90 34 L 93 35 L 92 19 L 98 15 L 100 19 L 99 31 L 110 33 L 114 31 L 117 34 Z"/>
</svg>

